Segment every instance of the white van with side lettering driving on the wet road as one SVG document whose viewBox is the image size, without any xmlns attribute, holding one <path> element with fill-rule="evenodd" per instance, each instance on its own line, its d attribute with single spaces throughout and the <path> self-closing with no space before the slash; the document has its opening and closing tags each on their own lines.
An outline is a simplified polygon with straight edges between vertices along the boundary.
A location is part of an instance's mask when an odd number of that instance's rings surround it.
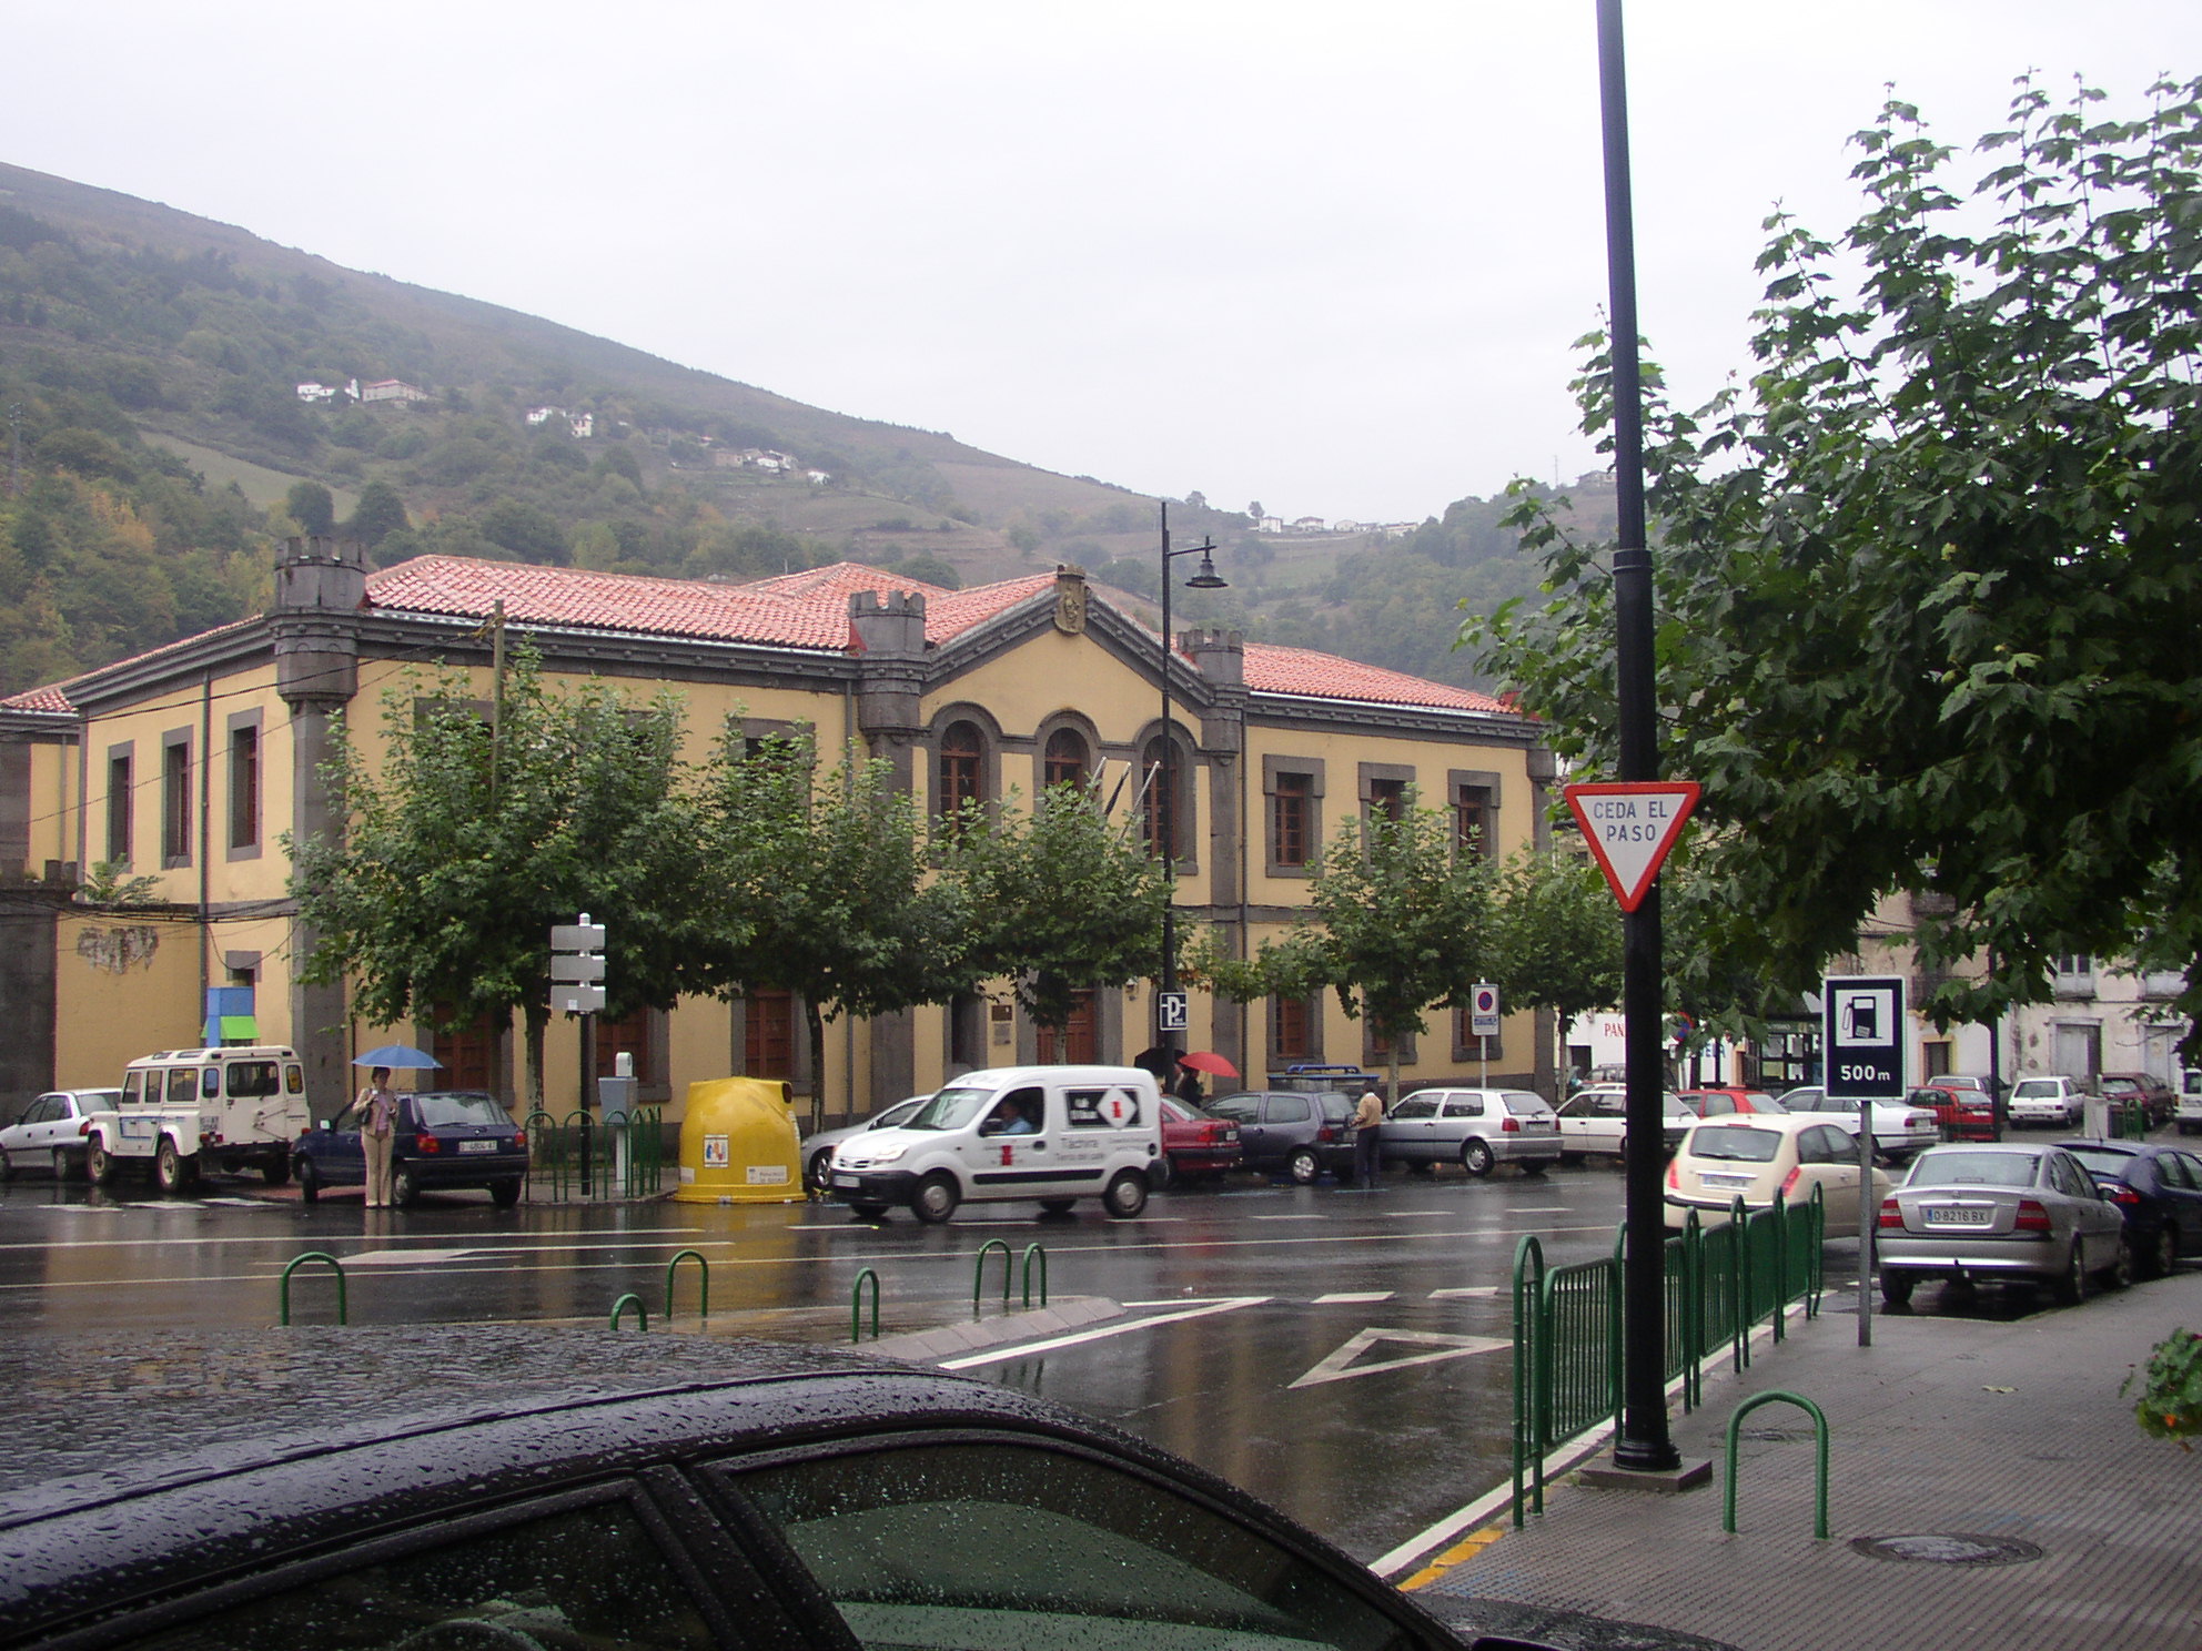
<svg viewBox="0 0 2202 1651">
<path fill-rule="evenodd" d="M 828 1191 L 859 1215 L 907 1204 L 945 1222 L 962 1202 L 1037 1200 L 1110 1215 L 1147 1206 L 1163 1098 L 1136 1065 L 1002 1065 L 949 1079 L 916 1116 L 835 1147 Z"/>
</svg>

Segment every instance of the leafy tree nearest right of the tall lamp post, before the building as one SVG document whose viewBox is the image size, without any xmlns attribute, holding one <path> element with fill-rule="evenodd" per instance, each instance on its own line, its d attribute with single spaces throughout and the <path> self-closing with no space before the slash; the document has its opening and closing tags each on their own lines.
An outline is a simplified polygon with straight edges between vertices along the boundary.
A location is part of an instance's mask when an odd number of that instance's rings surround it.
<svg viewBox="0 0 2202 1651">
<path fill-rule="evenodd" d="M 1235 1002 L 1308 997 L 1323 986 L 1350 1019 L 1367 1017 L 1392 1050 L 1425 1028 L 1425 1010 L 1458 1008 L 1495 962 L 1493 883 L 1482 854 L 1460 852 L 1453 821 L 1416 806 L 1370 814 L 1317 865 L 1308 911 L 1284 940 L 1251 960 L 1227 960 L 1209 942 L 1196 973 Z"/>
</svg>

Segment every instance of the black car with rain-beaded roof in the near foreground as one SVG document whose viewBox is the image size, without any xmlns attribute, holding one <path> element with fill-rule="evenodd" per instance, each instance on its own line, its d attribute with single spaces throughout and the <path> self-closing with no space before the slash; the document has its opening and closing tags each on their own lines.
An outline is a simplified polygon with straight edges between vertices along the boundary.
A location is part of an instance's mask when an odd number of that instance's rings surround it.
<svg viewBox="0 0 2202 1651">
<path fill-rule="evenodd" d="M 652 1341 L 636 1358 L 632 1336 L 491 1325 L 134 1336 L 130 1363 L 196 1398 L 99 1473 L 84 1437 L 132 1437 L 145 1398 L 110 1380 L 106 1343 L 75 1354 L 55 1369 L 68 1424 L 11 1444 L 7 1642 L 1473 1640 L 1445 1620 L 1473 1600 L 1403 1594 L 1068 1407 L 850 1352 Z"/>
</svg>

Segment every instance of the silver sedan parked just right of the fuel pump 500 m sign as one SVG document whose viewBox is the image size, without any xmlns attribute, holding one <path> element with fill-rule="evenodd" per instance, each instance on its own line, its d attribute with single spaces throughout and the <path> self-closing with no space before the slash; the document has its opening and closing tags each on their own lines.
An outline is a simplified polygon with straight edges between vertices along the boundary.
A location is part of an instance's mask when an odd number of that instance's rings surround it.
<svg viewBox="0 0 2202 1651">
<path fill-rule="evenodd" d="M 1929 1147 L 1881 1200 L 1881 1297 L 1911 1299 L 1920 1279 L 2021 1279 L 2063 1303 L 2103 1275 L 2134 1277 L 2125 1215 L 2061 1147 Z"/>
</svg>

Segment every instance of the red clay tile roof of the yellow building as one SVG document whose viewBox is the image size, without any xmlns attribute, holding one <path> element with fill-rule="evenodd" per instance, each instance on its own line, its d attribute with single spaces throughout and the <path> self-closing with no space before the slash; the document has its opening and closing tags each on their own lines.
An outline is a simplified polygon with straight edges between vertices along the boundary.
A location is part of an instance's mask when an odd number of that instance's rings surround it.
<svg viewBox="0 0 2202 1651">
<path fill-rule="evenodd" d="M 850 645 L 848 599 L 861 590 L 912 590 L 925 597 L 925 641 L 940 645 L 1046 594 L 1053 586 L 1053 572 L 1035 572 L 975 590 L 942 590 L 918 579 L 898 579 L 861 561 L 837 561 L 828 568 L 722 586 L 702 579 L 658 579 L 586 568 L 531 568 L 517 561 L 414 557 L 368 577 L 368 608 L 487 619 L 502 599 L 506 619 L 522 625 L 698 636 L 839 654 Z M 170 643 L 170 647 L 181 647 L 181 643 Z M 156 647 L 137 658 L 148 660 L 163 652 L 167 649 Z M 0 700 L 0 707 L 70 711 L 75 704 L 68 689 L 75 680 L 81 678 L 15 693 Z M 1425 682 L 1405 671 L 1273 643 L 1246 643 L 1246 687 L 1257 693 L 1370 704 L 1511 711 L 1489 693 Z"/>
</svg>

